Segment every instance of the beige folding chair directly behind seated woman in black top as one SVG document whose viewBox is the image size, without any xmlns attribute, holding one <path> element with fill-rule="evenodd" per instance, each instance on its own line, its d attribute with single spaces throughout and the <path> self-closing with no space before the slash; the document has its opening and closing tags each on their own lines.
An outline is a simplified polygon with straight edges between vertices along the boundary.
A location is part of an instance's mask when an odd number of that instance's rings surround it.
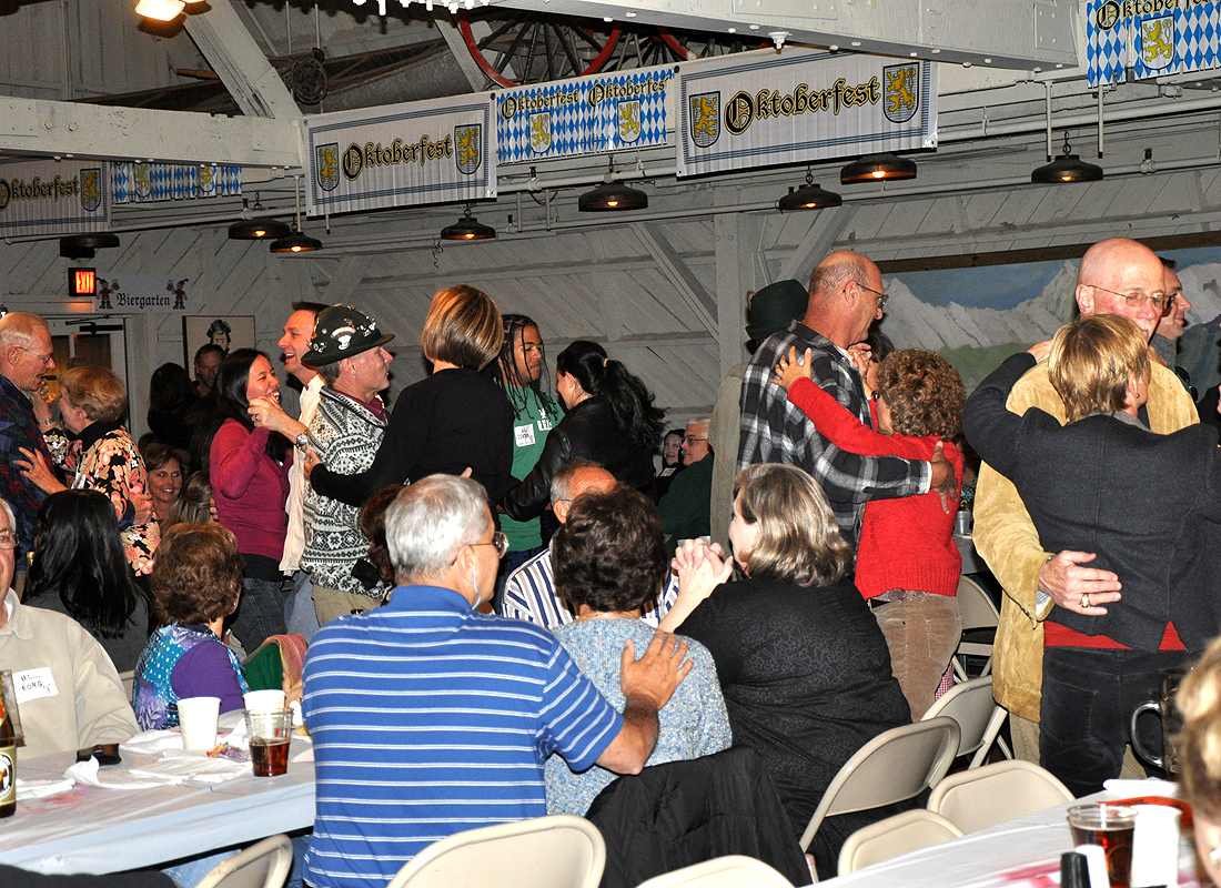
<svg viewBox="0 0 1221 888">
<path fill-rule="evenodd" d="M 941 716 L 878 734 L 849 759 L 823 793 L 801 834 L 808 851 L 824 818 L 911 799 L 935 785 L 958 751 L 958 723 Z"/>
</svg>

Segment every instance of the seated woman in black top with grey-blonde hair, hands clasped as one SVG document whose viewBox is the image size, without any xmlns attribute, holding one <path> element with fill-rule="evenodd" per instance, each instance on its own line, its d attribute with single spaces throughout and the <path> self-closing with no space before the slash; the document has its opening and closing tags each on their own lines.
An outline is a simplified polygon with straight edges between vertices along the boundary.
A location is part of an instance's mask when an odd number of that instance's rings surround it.
<svg viewBox="0 0 1221 888">
<path fill-rule="evenodd" d="M 734 486 L 733 562 L 722 561 L 719 545 L 685 544 L 675 559 L 679 597 L 661 628 L 681 627 L 712 653 L 734 743 L 763 757 L 800 835 L 840 767 L 907 724 L 911 710 L 818 482 L 767 463 L 739 471 Z M 729 583 L 734 563 L 745 579 Z M 835 875 L 853 831 L 900 810 L 825 821 L 810 848 L 819 875 Z"/>
</svg>

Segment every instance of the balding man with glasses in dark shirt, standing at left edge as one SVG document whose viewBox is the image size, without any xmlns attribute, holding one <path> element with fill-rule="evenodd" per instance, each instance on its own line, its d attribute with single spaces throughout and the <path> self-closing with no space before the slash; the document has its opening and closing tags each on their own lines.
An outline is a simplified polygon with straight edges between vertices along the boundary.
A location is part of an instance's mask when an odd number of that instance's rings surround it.
<svg viewBox="0 0 1221 888">
<path fill-rule="evenodd" d="M 17 515 L 15 586 L 18 591 L 26 579 L 26 559 L 21 555 L 33 547 L 38 503 L 45 493 L 12 460 L 22 458 L 20 448 L 24 447 L 42 453 L 51 464 L 43 435 L 51 432 L 55 421 L 44 386 L 46 374 L 54 369 L 46 321 L 26 311 L 10 311 L 0 318 L 0 498 L 7 500 Z"/>
</svg>

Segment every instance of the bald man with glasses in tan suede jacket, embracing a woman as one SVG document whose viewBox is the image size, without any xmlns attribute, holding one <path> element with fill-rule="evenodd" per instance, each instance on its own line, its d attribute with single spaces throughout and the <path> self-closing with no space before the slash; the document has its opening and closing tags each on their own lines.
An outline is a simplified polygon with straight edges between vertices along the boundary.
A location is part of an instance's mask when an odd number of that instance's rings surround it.
<svg viewBox="0 0 1221 888">
<path fill-rule="evenodd" d="M 1161 260 L 1148 247 L 1112 238 L 1085 252 L 1077 271 L 1076 297 L 1081 314 L 1131 318 L 1149 338 L 1161 321 L 1166 275 Z M 1149 401 L 1140 410 L 1140 419 L 1164 435 L 1195 423 L 1195 407 L 1178 377 L 1158 362 L 1153 364 Z M 1051 387 L 1045 360 L 1018 381 L 1006 407 L 1018 414 L 1038 407 L 1065 421 L 1063 403 Z M 1048 470 L 1067 471 L 1071 467 L 1048 467 Z M 1043 619 L 1053 603 L 1096 616 L 1100 608 L 1120 600 L 1123 578 L 1089 567 L 1094 558 L 1089 552 L 1043 551 L 1017 490 L 987 464 L 979 473 L 974 518 L 976 548 L 1005 589 L 993 650 L 993 696 L 1010 711 L 1015 754 L 1037 762 Z M 1133 515 L 1133 520 L 1139 520 L 1139 515 Z M 1082 639 L 1062 640 L 1088 644 Z"/>
</svg>

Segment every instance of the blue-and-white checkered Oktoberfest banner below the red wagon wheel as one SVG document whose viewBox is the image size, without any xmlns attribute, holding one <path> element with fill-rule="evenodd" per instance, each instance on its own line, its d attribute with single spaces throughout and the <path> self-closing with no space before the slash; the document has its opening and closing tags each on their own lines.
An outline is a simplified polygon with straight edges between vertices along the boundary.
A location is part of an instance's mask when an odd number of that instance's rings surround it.
<svg viewBox="0 0 1221 888">
<path fill-rule="evenodd" d="M 495 93 L 499 161 L 664 145 L 674 68 L 640 68 Z"/>
</svg>

